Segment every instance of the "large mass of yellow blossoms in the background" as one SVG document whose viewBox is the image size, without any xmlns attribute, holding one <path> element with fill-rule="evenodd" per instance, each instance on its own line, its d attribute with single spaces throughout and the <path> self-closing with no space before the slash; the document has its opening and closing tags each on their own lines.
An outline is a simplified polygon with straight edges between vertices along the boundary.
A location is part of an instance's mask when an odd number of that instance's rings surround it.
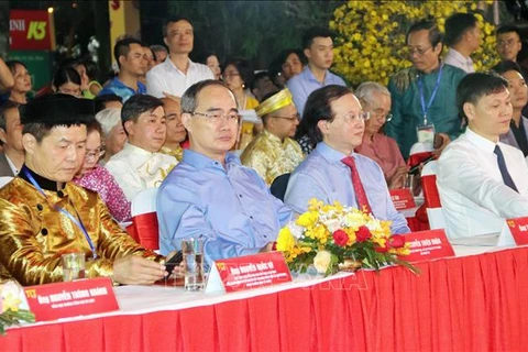
<svg viewBox="0 0 528 352">
<path fill-rule="evenodd" d="M 495 26 L 479 13 L 482 1 L 348 1 L 336 9 L 330 29 L 336 38 L 333 69 L 353 86 L 367 80 L 388 84 L 392 75 L 411 64 L 405 52 L 405 36 L 409 26 L 419 20 L 433 16 L 440 31 L 455 12 L 472 12 L 482 31 L 482 45 L 472 55 L 475 70 L 496 64 Z M 483 3 L 491 4 L 493 0 Z"/>
</svg>

